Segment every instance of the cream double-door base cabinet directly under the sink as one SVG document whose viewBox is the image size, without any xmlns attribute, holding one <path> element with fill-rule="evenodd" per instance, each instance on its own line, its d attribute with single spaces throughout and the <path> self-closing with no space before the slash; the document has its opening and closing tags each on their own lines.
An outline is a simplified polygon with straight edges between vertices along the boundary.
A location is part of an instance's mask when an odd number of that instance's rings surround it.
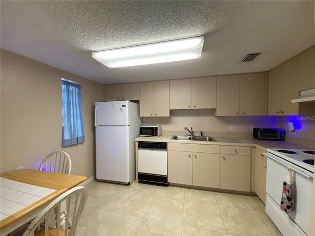
<svg viewBox="0 0 315 236">
<path fill-rule="evenodd" d="M 218 145 L 168 143 L 168 182 L 219 188 L 219 147 Z"/>
</svg>

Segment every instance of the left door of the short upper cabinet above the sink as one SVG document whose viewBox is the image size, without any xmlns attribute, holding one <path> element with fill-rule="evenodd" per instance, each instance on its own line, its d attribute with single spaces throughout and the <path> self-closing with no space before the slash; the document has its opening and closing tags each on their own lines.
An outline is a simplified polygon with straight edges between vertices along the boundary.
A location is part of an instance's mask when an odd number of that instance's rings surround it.
<svg viewBox="0 0 315 236">
<path fill-rule="evenodd" d="M 169 109 L 191 109 L 191 79 L 169 81 Z"/>
</svg>

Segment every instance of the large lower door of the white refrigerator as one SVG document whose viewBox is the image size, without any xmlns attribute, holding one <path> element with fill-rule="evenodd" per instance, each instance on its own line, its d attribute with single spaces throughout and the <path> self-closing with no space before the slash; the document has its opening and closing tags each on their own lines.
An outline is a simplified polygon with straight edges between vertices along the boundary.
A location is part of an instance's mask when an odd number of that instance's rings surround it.
<svg viewBox="0 0 315 236">
<path fill-rule="evenodd" d="M 95 135 L 96 178 L 130 182 L 129 126 L 97 126 Z"/>
</svg>

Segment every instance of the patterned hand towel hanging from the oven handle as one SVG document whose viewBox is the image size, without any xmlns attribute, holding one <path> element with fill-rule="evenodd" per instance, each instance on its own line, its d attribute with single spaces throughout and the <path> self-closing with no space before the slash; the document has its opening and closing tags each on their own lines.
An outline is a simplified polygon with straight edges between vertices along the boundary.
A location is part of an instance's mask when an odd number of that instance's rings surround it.
<svg viewBox="0 0 315 236">
<path fill-rule="evenodd" d="M 287 167 L 288 173 L 284 179 L 280 208 L 287 214 L 294 208 L 294 182 L 290 167 Z"/>
</svg>

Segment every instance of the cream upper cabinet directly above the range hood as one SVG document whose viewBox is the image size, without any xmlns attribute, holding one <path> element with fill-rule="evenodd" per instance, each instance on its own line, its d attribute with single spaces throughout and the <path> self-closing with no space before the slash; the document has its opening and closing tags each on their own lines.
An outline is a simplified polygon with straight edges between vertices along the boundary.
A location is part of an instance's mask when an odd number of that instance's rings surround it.
<svg viewBox="0 0 315 236">
<path fill-rule="evenodd" d="M 298 56 L 299 90 L 315 88 L 315 47 Z"/>
</svg>

